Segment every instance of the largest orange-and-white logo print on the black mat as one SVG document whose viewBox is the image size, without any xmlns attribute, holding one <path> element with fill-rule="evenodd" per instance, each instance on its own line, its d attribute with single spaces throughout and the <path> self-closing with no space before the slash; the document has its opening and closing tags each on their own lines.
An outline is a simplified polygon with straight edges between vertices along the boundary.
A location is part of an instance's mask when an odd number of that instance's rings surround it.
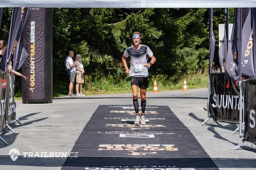
<svg viewBox="0 0 256 170">
<path fill-rule="evenodd" d="M 127 153 L 127 155 L 147 155 L 147 154 L 156 154 L 157 152 L 175 152 L 178 151 L 179 148 L 176 148 L 175 145 L 99 145 L 99 151 L 102 150 L 111 150 L 111 151 L 129 151 L 131 153 Z"/>
</svg>

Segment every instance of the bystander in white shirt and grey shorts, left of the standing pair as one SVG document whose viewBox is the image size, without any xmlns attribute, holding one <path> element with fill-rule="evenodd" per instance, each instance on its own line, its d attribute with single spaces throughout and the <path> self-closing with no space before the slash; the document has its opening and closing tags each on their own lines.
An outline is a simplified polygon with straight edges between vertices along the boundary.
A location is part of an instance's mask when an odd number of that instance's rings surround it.
<svg viewBox="0 0 256 170">
<path fill-rule="evenodd" d="M 74 88 L 74 81 L 76 76 L 76 66 L 77 64 L 74 63 L 74 60 L 72 59 L 74 57 L 74 52 L 72 50 L 68 51 L 68 56 L 65 60 L 65 66 L 66 66 L 66 73 L 68 74 L 70 83 L 68 87 L 68 96 L 74 96 L 73 94 L 73 88 Z"/>
</svg>

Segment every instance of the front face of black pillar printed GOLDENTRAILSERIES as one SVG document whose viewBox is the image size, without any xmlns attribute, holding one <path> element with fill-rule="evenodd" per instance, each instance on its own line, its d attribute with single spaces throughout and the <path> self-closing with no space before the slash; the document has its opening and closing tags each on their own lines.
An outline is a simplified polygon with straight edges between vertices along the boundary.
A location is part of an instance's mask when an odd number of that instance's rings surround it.
<svg viewBox="0 0 256 170">
<path fill-rule="evenodd" d="M 44 98 L 44 19 L 45 8 L 30 8 L 28 22 L 24 28 L 23 42 L 28 57 L 23 65 L 23 73 L 28 80 L 23 81 L 23 97 Z M 49 67 L 51 69 L 51 67 Z"/>
</svg>

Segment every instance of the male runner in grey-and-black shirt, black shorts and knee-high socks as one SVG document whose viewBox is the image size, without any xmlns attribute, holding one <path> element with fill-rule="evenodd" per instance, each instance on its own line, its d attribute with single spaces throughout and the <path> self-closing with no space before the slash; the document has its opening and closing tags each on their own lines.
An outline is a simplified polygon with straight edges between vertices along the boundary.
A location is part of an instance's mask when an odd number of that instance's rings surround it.
<svg viewBox="0 0 256 170">
<path fill-rule="evenodd" d="M 130 74 L 133 105 L 136 113 L 134 124 L 145 125 L 145 108 L 146 108 L 146 92 L 148 88 L 148 68 L 156 62 L 153 52 L 147 45 L 140 45 L 140 32 L 132 33 L 132 42 L 134 45 L 128 47 L 122 62 L 125 67 L 125 73 Z M 126 58 L 131 57 L 131 67 L 127 66 Z M 150 62 L 147 63 L 147 57 L 150 57 Z M 141 117 L 139 115 L 139 102 L 138 102 L 138 87 L 140 87 L 141 97 Z"/>
</svg>

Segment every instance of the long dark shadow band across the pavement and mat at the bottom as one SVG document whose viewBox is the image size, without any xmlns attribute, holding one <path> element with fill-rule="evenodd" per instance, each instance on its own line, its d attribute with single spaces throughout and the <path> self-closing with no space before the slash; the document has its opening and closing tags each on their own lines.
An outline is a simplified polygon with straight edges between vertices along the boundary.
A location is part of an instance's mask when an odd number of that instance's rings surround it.
<svg viewBox="0 0 256 170">
<path fill-rule="evenodd" d="M 136 167 L 170 167 L 172 164 L 179 164 L 180 167 L 197 167 L 201 169 L 216 169 L 207 165 L 207 159 L 200 158 L 173 158 L 173 159 L 150 159 L 150 158 L 106 158 L 106 157 L 77 157 L 68 158 L 63 169 L 70 169 L 70 167 L 105 167 L 105 168 L 134 168 Z M 65 157 L 21 157 L 14 162 L 9 155 L 0 156 L 0 165 L 4 166 L 37 166 L 37 167 L 61 167 L 65 162 Z M 256 159 L 227 159 L 215 158 L 212 159 L 219 168 L 256 168 Z M 205 162 L 205 163 L 204 163 Z M 228 163 L 227 163 L 228 162 Z M 196 168 L 196 169 L 197 169 Z"/>
</svg>

